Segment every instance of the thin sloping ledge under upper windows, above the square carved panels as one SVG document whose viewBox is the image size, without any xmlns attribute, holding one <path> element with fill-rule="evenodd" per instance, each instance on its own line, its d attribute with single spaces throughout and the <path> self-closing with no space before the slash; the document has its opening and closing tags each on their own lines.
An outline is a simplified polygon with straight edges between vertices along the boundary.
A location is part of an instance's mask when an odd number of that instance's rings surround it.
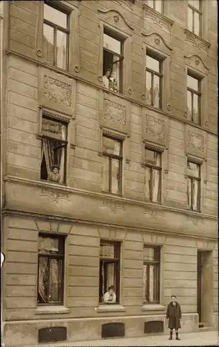
<svg viewBox="0 0 219 347">
<path fill-rule="evenodd" d="M 80 81 L 80 82 L 82 82 L 82 83 L 86 83 L 86 85 L 90 85 L 90 86 L 92 86 L 92 87 L 97 88 L 98 90 L 102 90 L 103 92 L 106 92 L 106 88 L 102 87 L 102 85 L 97 85 L 97 83 L 90 82 L 90 81 L 86 80 L 85 78 L 81 78 L 81 77 L 78 76 L 78 75 L 72 74 L 72 73 L 69 72 L 69 71 L 65 71 L 65 70 L 63 70 L 63 69 L 58 69 L 57 67 L 54 67 L 54 66 L 52 66 L 52 65 L 47 65 L 47 64 L 45 64 L 44 62 L 40 62 L 40 61 L 38 61 L 38 60 L 36 60 L 36 59 L 33 59 L 33 58 L 30 58 L 30 57 L 24 56 L 24 55 L 21 54 L 21 53 L 17 53 L 17 52 L 15 52 L 15 51 L 13 51 L 13 49 L 8 49 L 8 51 L 6 51 L 6 55 L 10 55 L 10 54 L 12 54 L 12 55 L 14 55 L 14 56 L 17 56 L 17 57 L 19 57 L 19 58 L 22 58 L 22 59 L 24 59 L 24 60 L 28 60 L 28 61 L 34 62 L 36 65 L 39 65 L 39 66 L 41 66 L 41 67 L 44 67 L 44 68 L 46 68 L 46 69 L 49 69 L 49 70 L 51 70 L 51 71 L 56 72 L 56 74 L 61 74 L 61 75 L 67 76 L 67 77 L 69 77 L 69 78 L 73 78 L 75 81 Z M 186 119 L 181 119 L 181 118 L 179 118 L 179 117 L 177 117 L 177 116 L 175 116 L 175 115 L 172 115 L 172 114 L 170 114 L 170 113 L 168 113 L 168 112 L 165 112 L 165 111 L 163 111 L 163 110 L 159 110 L 159 108 L 156 108 L 156 110 L 155 110 L 152 106 L 149 106 L 149 105 L 147 105 L 146 103 L 141 103 L 141 102 L 138 101 L 138 100 L 131 99 L 131 98 L 129 98 L 129 96 L 127 96 L 127 95 L 120 94 L 120 93 L 115 93 L 115 92 L 111 92 L 111 91 L 108 91 L 108 90 L 107 90 L 107 92 L 108 92 L 108 94 L 113 94 L 113 95 L 115 95 L 115 96 L 117 96 L 117 97 L 120 97 L 120 99 L 124 99 L 124 100 L 126 100 L 126 101 L 130 101 L 131 103 L 136 103 L 136 105 L 139 105 L 140 107 L 143 107 L 143 108 L 145 108 L 146 110 L 151 110 L 151 111 L 153 111 L 153 112 L 156 112 L 156 113 L 158 113 L 159 115 L 164 115 L 164 116 L 170 117 L 171 119 L 177 119 L 178 121 L 181 121 L 181 123 L 183 123 L 183 124 L 189 124 L 189 125 L 191 124 L 190 121 L 187 121 Z M 198 128 L 198 129 L 204 130 L 206 133 L 209 133 L 209 134 L 213 134 L 213 135 L 218 136 L 218 133 L 216 133 L 215 131 L 212 131 L 212 130 L 210 130 L 210 129 L 206 129 L 206 128 L 202 127 L 202 126 L 199 126 L 198 124 L 195 124 L 195 123 L 194 123 L 193 126 L 194 126 L 194 128 Z"/>
</svg>

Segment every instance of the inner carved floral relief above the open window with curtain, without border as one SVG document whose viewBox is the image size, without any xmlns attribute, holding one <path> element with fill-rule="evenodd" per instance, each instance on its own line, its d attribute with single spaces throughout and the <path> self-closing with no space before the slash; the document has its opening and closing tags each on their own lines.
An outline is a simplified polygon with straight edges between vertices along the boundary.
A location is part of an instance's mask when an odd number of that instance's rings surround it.
<svg viewBox="0 0 219 347">
<path fill-rule="evenodd" d="M 72 105 L 72 86 L 44 75 L 43 96 L 54 103 Z"/>
</svg>

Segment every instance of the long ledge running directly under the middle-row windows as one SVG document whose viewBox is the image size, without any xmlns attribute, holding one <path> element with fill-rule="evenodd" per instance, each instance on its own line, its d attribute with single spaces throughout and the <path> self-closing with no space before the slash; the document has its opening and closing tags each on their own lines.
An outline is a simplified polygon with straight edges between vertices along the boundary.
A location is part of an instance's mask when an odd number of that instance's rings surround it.
<svg viewBox="0 0 219 347">
<path fill-rule="evenodd" d="M 5 176 L 3 177 L 3 182 L 5 183 L 17 183 L 20 185 L 29 185 L 31 187 L 39 187 L 41 189 L 54 189 L 54 192 L 59 191 L 63 192 L 64 194 L 81 194 L 81 195 L 87 195 L 92 198 L 99 198 L 102 200 L 111 201 L 112 203 L 120 203 L 121 205 L 124 205 L 124 203 L 127 203 L 129 205 L 135 205 L 139 206 L 143 209 L 149 208 L 154 210 L 163 210 L 168 212 L 177 212 L 184 214 L 186 216 L 190 215 L 191 217 L 197 217 L 197 218 L 204 218 L 204 219 L 214 219 L 218 220 L 218 217 L 212 216 L 211 214 L 200 214 L 193 211 L 188 210 L 182 210 L 179 208 L 172 208 L 170 206 L 165 205 L 157 205 L 154 203 L 148 203 L 145 201 L 137 201 L 137 200 L 131 200 L 129 198 L 123 198 L 122 196 L 112 196 L 111 194 L 102 194 L 97 192 L 90 192 L 88 190 L 83 189 L 77 189 L 73 187 L 67 187 L 63 185 L 58 185 L 56 183 L 48 183 L 47 181 L 43 182 L 41 180 L 29 180 L 28 178 L 19 178 L 17 176 Z"/>
</svg>

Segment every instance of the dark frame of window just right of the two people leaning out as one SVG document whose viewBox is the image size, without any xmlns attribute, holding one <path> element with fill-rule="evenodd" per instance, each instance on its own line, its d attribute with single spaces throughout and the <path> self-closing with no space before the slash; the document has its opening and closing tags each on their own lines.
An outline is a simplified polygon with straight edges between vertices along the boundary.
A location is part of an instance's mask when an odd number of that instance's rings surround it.
<svg viewBox="0 0 219 347">
<path fill-rule="evenodd" d="M 147 67 L 147 56 L 149 56 L 150 58 L 156 60 L 159 62 L 159 72 L 154 71 L 152 69 L 149 69 Z M 151 74 L 151 78 L 152 78 L 152 102 L 149 104 L 147 103 L 147 105 L 152 106 L 153 108 L 157 108 L 153 103 L 154 101 L 154 75 L 159 77 L 159 94 L 160 94 L 160 98 L 159 98 L 159 110 L 162 110 L 162 105 L 163 105 L 163 100 L 162 100 L 162 95 L 163 95 L 163 59 L 161 57 L 159 57 L 158 55 L 156 55 L 156 53 L 150 51 L 149 49 L 146 49 L 146 63 L 145 63 L 145 81 L 147 83 L 147 77 L 146 74 L 147 72 L 149 72 L 149 74 Z M 147 84 L 146 84 L 146 90 L 147 90 Z M 147 100 L 147 95 L 146 95 L 146 100 Z"/>
</svg>

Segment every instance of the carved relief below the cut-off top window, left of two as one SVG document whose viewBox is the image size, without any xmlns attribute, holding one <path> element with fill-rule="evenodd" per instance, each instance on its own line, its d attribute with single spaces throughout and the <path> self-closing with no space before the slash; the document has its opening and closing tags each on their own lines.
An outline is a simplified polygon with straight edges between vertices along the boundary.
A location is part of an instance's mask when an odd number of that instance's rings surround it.
<svg viewBox="0 0 219 347">
<path fill-rule="evenodd" d="M 172 24 L 174 24 L 174 21 L 172 21 L 168 17 L 165 17 L 161 13 L 154 10 L 154 8 L 151 8 L 150 6 L 147 6 L 146 4 L 143 5 L 143 16 L 145 18 L 151 19 L 153 24 L 156 24 L 162 29 L 166 28 L 168 29 L 168 31 L 171 31 Z"/>
</svg>

